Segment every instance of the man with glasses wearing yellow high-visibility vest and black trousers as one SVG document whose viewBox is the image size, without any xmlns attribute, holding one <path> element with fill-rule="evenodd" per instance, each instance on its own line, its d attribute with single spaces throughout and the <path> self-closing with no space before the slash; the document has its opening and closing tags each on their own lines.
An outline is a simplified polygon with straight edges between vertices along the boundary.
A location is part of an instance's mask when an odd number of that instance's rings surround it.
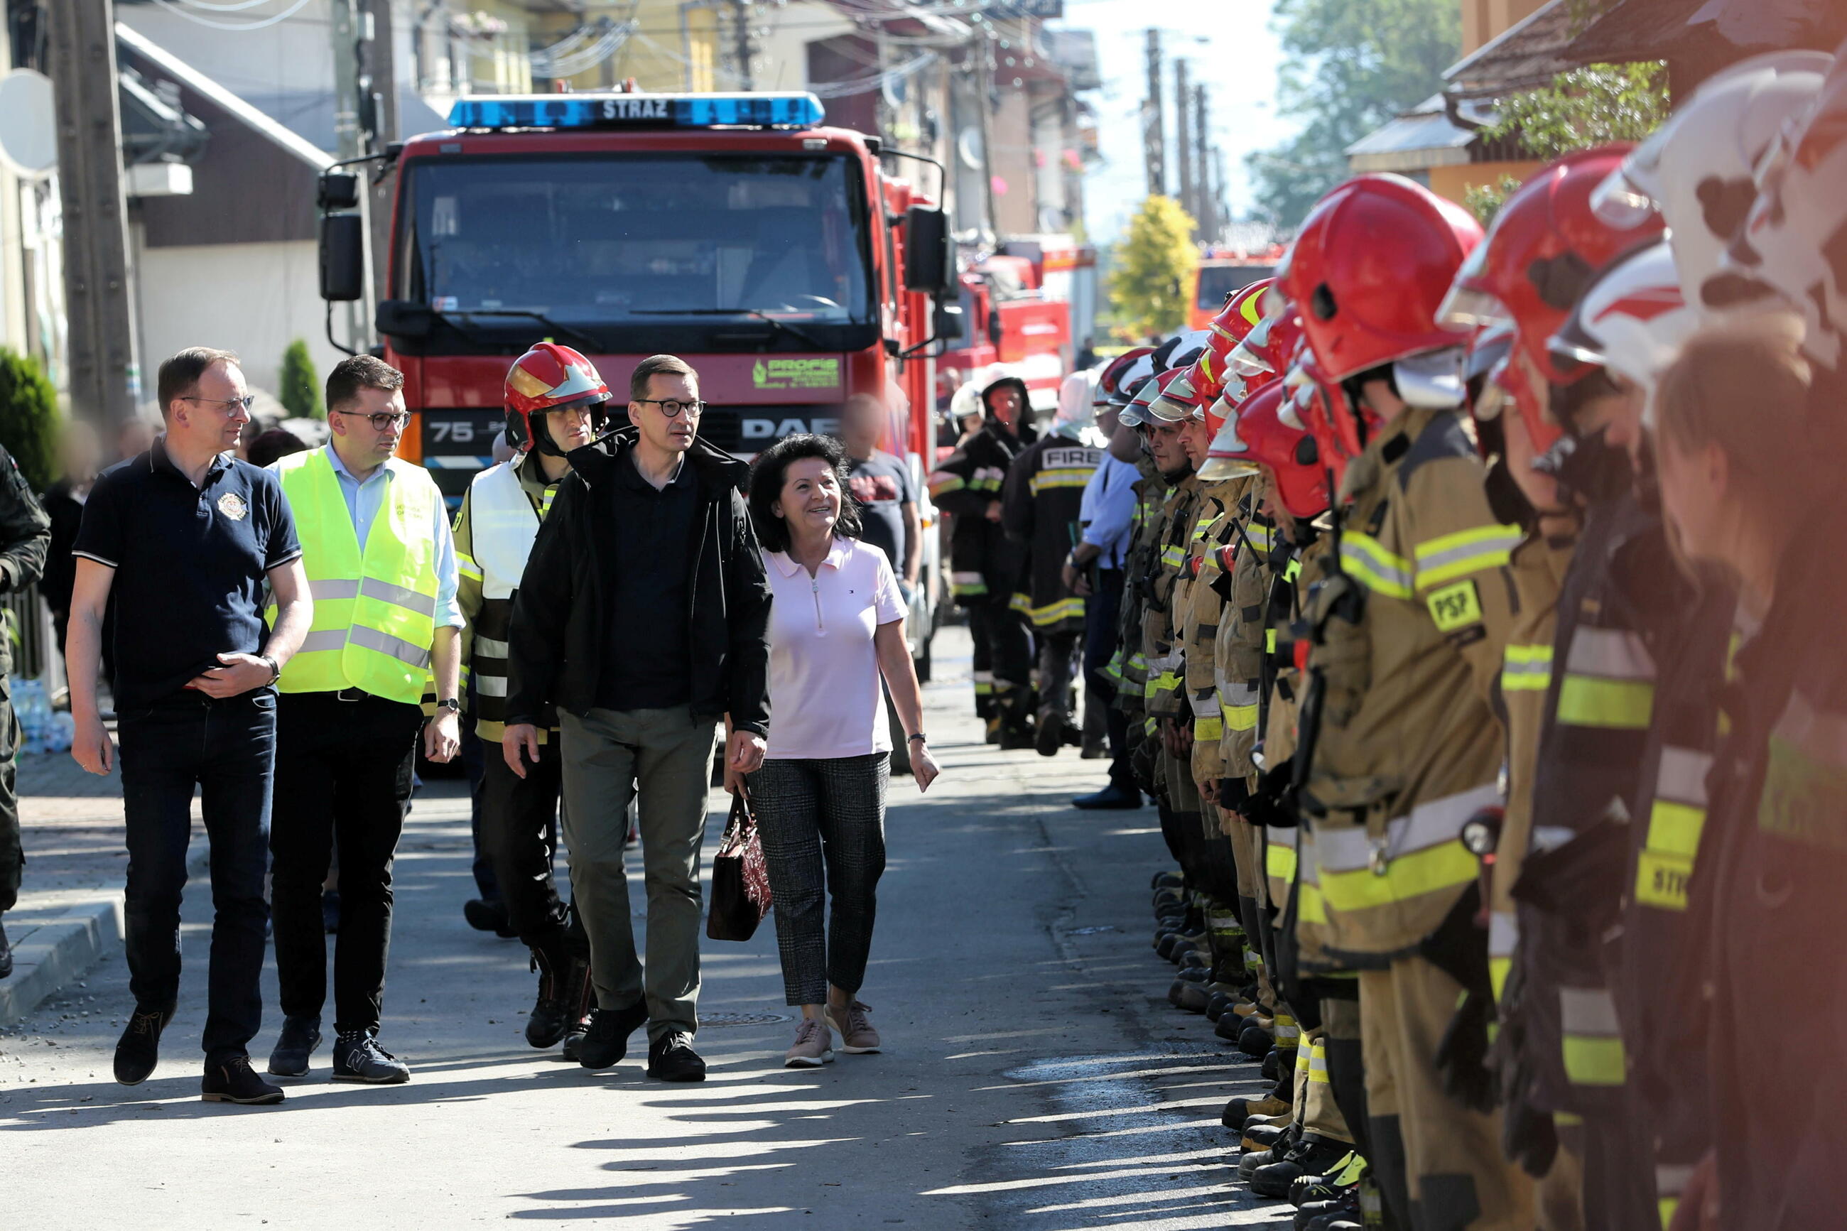
<svg viewBox="0 0 1847 1231">
<path fill-rule="evenodd" d="M 404 375 L 369 354 L 327 375 L 323 448 L 270 469 L 301 526 L 314 624 L 281 675 L 270 834 L 283 1034 L 270 1072 L 301 1076 L 321 1041 L 327 936 L 321 882 L 338 842 L 334 1082 L 395 1083 L 379 1046 L 392 941 L 392 858 L 410 803 L 417 731 L 430 760 L 458 747 L 462 613 L 449 509 L 436 480 L 399 461 Z M 423 690 L 436 677 L 436 716 Z"/>
</svg>

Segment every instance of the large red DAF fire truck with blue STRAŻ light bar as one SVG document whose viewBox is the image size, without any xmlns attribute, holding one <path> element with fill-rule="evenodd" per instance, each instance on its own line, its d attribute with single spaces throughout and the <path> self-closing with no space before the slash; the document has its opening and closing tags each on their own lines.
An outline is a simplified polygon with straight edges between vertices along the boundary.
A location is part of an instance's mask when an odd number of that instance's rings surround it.
<svg viewBox="0 0 1847 1231">
<path fill-rule="evenodd" d="M 709 402 L 700 436 L 742 458 L 829 432 L 842 400 L 877 393 L 887 448 L 922 493 L 933 353 L 960 323 L 948 218 L 887 172 L 916 155 L 824 122 L 813 94 L 462 98 L 451 129 L 331 168 L 329 312 L 366 295 L 364 164 L 375 183 L 395 175 L 375 353 L 404 373 L 416 412 L 401 454 L 460 502 L 491 465 L 508 365 L 550 338 L 589 354 L 617 402 L 643 356 L 682 356 Z M 911 624 L 927 664 L 938 550 L 920 504 Z"/>
</svg>

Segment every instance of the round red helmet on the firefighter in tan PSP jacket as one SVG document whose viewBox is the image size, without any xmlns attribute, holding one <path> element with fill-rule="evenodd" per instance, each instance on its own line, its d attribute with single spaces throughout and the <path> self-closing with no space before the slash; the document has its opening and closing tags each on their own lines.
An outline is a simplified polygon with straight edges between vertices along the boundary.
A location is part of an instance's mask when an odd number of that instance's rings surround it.
<svg viewBox="0 0 1847 1231">
<path fill-rule="evenodd" d="M 1322 375 L 1341 382 L 1457 345 L 1437 306 L 1481 227 L 1400 175 L 1359 175 L 1321 197 L 1276 273 Z"/>
</svg>

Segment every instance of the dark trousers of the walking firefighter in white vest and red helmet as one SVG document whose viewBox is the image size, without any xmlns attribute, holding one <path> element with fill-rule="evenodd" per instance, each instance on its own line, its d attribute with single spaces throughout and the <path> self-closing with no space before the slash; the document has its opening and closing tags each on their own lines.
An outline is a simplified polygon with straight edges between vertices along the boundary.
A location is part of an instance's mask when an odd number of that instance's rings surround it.
<svg viewBox="0 0 1847 1231">
<path fill-rule="evenodd" d="M 558 799 L 563 794 L 563 757 L 558 733 L 539 744 L 539 762 L 526 777 L 506 768 L 499 747 L 482 764 L 480 845 L 493 862 L 493 878 L 506 902 L 506 921 L 526 945 L 556 941 L 565 906 L 552 882 L 558 851 Z M 624 818 L 626 821 L 626 818 Z M 624 823 L 626 832 L 626 823 Z"/>
</svg>

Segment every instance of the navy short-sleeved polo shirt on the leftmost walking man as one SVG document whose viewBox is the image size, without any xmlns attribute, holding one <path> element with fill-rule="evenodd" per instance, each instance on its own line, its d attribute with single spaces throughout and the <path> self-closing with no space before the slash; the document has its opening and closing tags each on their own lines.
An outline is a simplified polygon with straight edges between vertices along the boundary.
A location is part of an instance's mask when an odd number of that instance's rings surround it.
<svg viewBox="0 0 1847 1231">
<path fill-rule="evenodd" d="M 70 554 L 115 568 L 124 712 L 179 696 L 220 653 L 262 653 L 266 574 L 301 543 L 275 474 L 220 454 L 194 487 L 157 441 L 98 476 Z"/>
</svg>

